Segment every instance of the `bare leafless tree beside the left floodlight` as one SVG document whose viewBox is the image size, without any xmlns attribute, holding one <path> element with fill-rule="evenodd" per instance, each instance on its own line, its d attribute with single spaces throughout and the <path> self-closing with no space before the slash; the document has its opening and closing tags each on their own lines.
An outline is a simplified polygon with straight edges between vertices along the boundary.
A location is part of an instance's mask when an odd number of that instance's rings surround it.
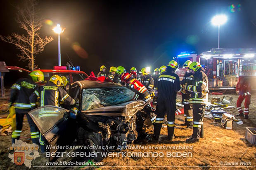
<svg viewBox="0 0 256 170">
<path fill-rule="evenodd" d="M 51 42 L 53 38 L 39 36 L 38 31 L 43 26 L 43 18 L 40 16 L 38 9 L 38 0 L 25 0 L 23 7 L 17 8 L 17 23 L 19 27 L 26 31 L 26 35 L 12 33 L 6 37 L 0 35 L 0 39 L 5 42 L 14 44 L 21 51 L 18 54 L 19 60 L 28 61 L 28 68 L 31 70 L 37 68 L 35 65 L 36 54 L 44 50 L 46 44 Z"/>
</svg>

